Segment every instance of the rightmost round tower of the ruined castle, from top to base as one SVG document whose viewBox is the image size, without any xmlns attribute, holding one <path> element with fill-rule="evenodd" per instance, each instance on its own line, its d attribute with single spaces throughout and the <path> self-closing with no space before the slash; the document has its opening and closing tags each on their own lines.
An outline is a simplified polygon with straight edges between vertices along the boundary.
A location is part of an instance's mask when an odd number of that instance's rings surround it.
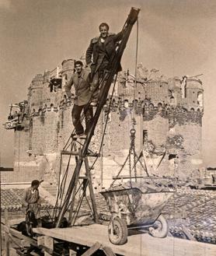
<svg viewBox="0 0 216 256">
<path fill-rule="evenodd" d="M 180 108 L 169 110 L 169 170 L 175 170 L 176 174 L 183 177 L 197 178 L 197 170 L 203 162 L 201 141 L 204 91 L 198 79 L 186 79 L 184 86 Z"/>
</svg>

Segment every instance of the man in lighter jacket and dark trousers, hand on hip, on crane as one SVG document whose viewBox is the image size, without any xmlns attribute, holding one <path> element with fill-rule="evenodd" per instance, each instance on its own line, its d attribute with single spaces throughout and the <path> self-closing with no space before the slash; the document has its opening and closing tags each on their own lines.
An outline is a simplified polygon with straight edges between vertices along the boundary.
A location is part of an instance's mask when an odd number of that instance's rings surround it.
<svg viewBox="0 0 216 256">
<path fill-rule="evenodd" d="M 82 61 L 75 61 L 76 72 L 71 76 L 65 85 L 65 93 L 70 99 L 72 96 L 71 86 L 75 86 L 74 107 L 72 109 L 72 122 L 75 127 L 76 135 L 74 138 L 85 139 L 92 124 L 93 110 L 89 106 L 91 91 L 89 85 L 89 71 L 83 69 Z M 85 132 L 80 120 L 82 110 L 85 115 Z"/>
</svg>

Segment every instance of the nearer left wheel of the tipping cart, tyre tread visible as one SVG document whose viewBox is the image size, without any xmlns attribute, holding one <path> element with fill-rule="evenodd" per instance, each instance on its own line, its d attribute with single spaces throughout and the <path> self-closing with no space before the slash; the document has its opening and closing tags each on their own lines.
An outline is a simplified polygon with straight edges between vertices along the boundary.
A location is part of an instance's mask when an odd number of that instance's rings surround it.
<svg viewBox="0 0 216 256">
<path fill-rule="evenodd" d="M 127 225 L 123 219 L 116 217 L 108 226 L 109 239 L 112 244 L 125 244 L 127 242 Z"/>
</svg>

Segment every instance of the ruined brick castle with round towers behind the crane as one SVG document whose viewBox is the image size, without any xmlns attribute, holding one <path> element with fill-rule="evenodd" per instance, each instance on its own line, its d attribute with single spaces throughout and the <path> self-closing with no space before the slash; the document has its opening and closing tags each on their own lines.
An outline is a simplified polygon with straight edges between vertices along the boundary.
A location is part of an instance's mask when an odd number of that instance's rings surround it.
<svg viewBox="0 0 216 256">
<path fill-rule="evenodd" d="M 73 130 L 73 102 L 67 100 L 64 85 L 74 72 L 74 63 L 75 60 L 68 59 L 62 62 L 61 68 L 36 75 L 28 89 L 28 100 L 19 104 L 23 106 L 18 113 L 19 120 L 5 124 L 5 128 L 14 128 L 14 170 L 2 174 L 2 182 L 44 178 L 50 184 L 57 184 L 60 152 Z M 114 90 L 110 89 L 112 102 L 107 99 L 90 144 L 91 149 L 99 150 L 110 105 L 101 157 L 92 170 L 95 189 L 109 187 L 124 163 L 134 120 L 136 150 L 143 153 L 142 161 L 149 174 L 199 177 L 204 111 L 202 82 L 186 76 L 165 79 L 156 77 L 156 72 L 139 65 L 137 82 L 123 72 Z M 63 165 L 67 165 L 67 160 Z M 71 162 L 71 173 L 74 166 L 75 161 Z"/>
</svg>

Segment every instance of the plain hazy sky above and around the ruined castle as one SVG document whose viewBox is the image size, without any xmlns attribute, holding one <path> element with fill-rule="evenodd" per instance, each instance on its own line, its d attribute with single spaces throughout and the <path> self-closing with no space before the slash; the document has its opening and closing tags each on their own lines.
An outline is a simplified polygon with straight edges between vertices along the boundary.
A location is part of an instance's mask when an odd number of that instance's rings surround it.
<svg viewBox="0 0 216 256">
<path fill-rule="evenodd" d="M 204 87 L 203 156 L 216 167 L 216 1 L 0 0 L 0 139 L 2 167 L 12 167 L 13 132 L 5 131 L 9 103 L 27 99 L 34 75 L 80 58 L 99 23 L 119 32 L 131 7 L 138 19 L 138 62 L 167 77 L 198 75 Z M 136 26 L 122 65 L 134 73 Z M 200 139 L 200 138 L 197 138 Z"/>
</svg>

